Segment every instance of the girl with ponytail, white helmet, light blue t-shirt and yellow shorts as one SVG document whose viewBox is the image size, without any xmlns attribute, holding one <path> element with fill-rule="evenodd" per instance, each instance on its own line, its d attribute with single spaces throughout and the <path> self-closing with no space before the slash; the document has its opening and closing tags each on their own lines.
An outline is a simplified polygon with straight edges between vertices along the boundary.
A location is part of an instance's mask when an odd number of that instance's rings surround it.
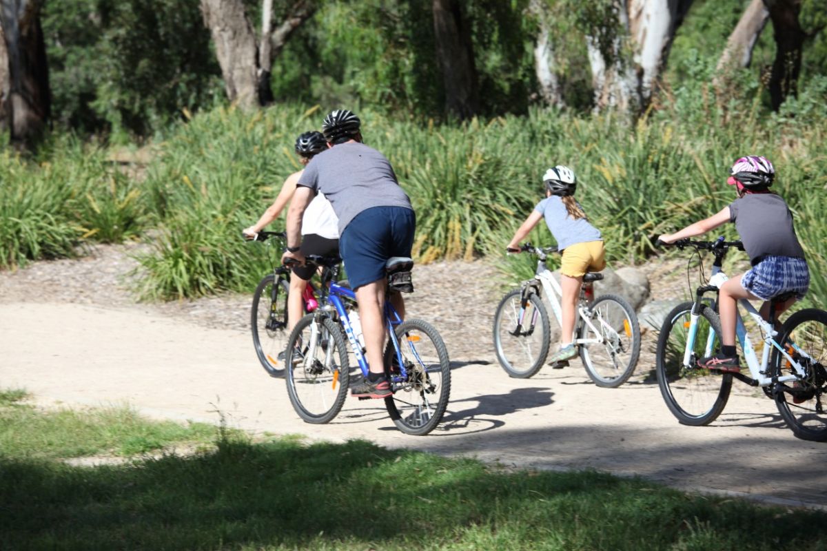
<svg viewBox="0 0 827 551">
<path fill-rule="evenodd" d="M 545 218 L 548 229 L 557 240 L 557 250 L 562 251 L 560 349 L 550 359 L 551 363 L 556 363 L 577 355 L 572 341 L 577 298 L 580 297 L 583 276 L 586 272 L 600 272 L 606 267 L 606 261 L 600 230 L 589 223 L 580 203 L 575 201 L 577 180 L 571 169 L 558 164 L 546 171 L 543 183 L 546 186 L 546 198 L 538 202 L 523 225 L 519 226 L 506 249 L 519 253 L 519 242 Z"/>
</svg>

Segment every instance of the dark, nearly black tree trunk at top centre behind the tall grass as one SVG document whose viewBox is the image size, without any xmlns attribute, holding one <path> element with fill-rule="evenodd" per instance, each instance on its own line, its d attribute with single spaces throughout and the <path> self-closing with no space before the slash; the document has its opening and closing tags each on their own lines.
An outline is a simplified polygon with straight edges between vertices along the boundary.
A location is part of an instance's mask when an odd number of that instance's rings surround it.
<svg viewBox="0 0 827 551">
<path fill-rule="evenodd" d="M 446 110 L 460 119 L 471 118 L 477 110 L 476 69 L 471 30 L 459 0 L 433 0 L 433 30 Z"/>
</svg>

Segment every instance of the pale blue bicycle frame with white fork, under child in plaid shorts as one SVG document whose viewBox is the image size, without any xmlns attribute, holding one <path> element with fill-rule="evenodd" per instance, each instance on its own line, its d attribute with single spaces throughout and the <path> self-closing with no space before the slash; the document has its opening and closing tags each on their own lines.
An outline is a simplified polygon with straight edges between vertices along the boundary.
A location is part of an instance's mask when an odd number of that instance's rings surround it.
<svg viewBox="0 0 827 551">
<path fill-rule="evenodd" d="M 710 278 L 710 286 L 720 288 L 721 285 L 727 280 L 726 274 L 724 273 L 723 269 L 717 265 L 718 262 L 716 261 L 715 264 L 712 265 L 712 277 Z M 701 287 L 704 288 L 704 287 Z M 695 346 L 695 339 L 698 332 L 698 321 L 700 320 L 700 296 L 702 292 L 701 289 L 698 291 L 698 299 L 695 302 L 695 306 L 692 308 L 692 312 L 690 315 L 690 325 L 689 325 L 689 333 L 688 339 L 686 340 L 686 350 L 683 356 L 683 364 L 687 368 L 693 368 L 695 366 L 691 365 L 691 351 Z M 792 359 L 791 355 L 787 353 L 786 349 L 781 344 L 778 344 L 774 339 L 775 336 L 778 335 L 778 332 L 772 328 L 772 325 L 769 322 L 764 321 L 755 307 L 748 302 L 746 299 L 740 299 L 739 305 L 743 307 L 745 311 L 753 318 L 753 320 L 758 324 L 758 328 L 761 331 L 764 337 L 762 341 L 764 343 L 764 347 L 761 354 L 761 361 L 758 361 L 758 354 L 756 354 L 755 349 L 753 348 L 753 343 L 749 340 L 749 335 L 747 334 L 747 328 L 743 325 L 743 318 L 741 317 L 741 312 L 736 308 L 735 310 L 735 336 L 738 339 L 739 343 L 741 344 L 741 350 L 743 351 L 743 357 L 747 361 L 747 366 L 749 368 L 749 373 L 751 378 L 747 377 L 739 377 L 738 374 L 735 375 L 736 378 L 743 380 L 744 382 L 748 382 L 753 386 L 758 387 L 767 387 L 775 382 L 786 382 L 786 381 L 795 381 L 799 377 L 796 375 L 784 375 L 782 377 L 766 377 L 767 374 L 767 366 L 769 365 L 769 358 L 770 358 L 770 349 L 774 347 L 777 349 L 783 356 L 784 359 L 788 363 L 791 364 L 792 368 L 798 373 L 799 376 L 803 377 L 805 372 L 804 368 L 801 367 L 801 364 L 796 362 Z M 709 336 L 706 340 L 706 345 L 704 349 L 705 357 L 709 357 L 713 353 L 713 344 L 715 342 L 715 330 L 710 328 Z M 793 349 L 796 350 L 801 357 L 809 358 L 807 354 L 801 349 L 799 349 L 795 343 L 790 343 Z"/>
</svg>

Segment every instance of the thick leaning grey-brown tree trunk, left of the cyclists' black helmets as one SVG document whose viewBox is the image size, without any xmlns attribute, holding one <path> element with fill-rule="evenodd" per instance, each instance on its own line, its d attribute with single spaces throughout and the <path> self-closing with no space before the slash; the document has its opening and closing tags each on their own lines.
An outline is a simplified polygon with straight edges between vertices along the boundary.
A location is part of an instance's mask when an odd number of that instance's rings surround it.
<svg viewBox="0 0 827 551">
<path fill-rule="evenodd" d="M 256 34 L 241 0 L 201 0 L 204 25 L 210 30 L 221 65 L 224 89 L 244 109 L 261 105 L 258 92 Z"/>
</svg>

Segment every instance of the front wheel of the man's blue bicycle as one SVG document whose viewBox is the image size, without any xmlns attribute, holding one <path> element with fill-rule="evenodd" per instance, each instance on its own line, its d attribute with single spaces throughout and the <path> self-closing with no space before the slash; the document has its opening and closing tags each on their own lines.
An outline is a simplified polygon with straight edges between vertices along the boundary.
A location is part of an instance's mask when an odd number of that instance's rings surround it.
<svg viewBox="0 0 827 551">
<path fill-rule="evenodd" d="M 308 314 L 290 333 L 287 349 L 287 394 L 293 409 L 308 423 L 327 423 L 347 397 L 350 369 L 342 328 L 328 317 L 317 320 Z"/>
</svg>

